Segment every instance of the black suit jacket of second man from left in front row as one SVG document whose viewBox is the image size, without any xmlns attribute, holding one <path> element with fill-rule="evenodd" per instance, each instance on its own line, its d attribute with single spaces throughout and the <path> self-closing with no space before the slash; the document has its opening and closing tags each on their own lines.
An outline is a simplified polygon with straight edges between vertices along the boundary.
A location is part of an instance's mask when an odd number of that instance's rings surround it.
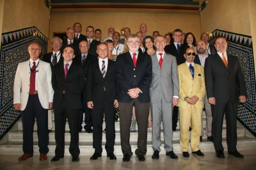
<svg viewBox="0 0 256 170">
<path fill-rule="evenodd" d="M 63 90 L 65 90 L 65 106 L 70 110 L 81 109 L 81 94 L 85 89 L 83 67 L 72 62 L 65 78 L 64 63 L 56 64 L 52 67 L 52 88 L 54 90 L 54 110 L 60 107 Z"/>
</svg>

